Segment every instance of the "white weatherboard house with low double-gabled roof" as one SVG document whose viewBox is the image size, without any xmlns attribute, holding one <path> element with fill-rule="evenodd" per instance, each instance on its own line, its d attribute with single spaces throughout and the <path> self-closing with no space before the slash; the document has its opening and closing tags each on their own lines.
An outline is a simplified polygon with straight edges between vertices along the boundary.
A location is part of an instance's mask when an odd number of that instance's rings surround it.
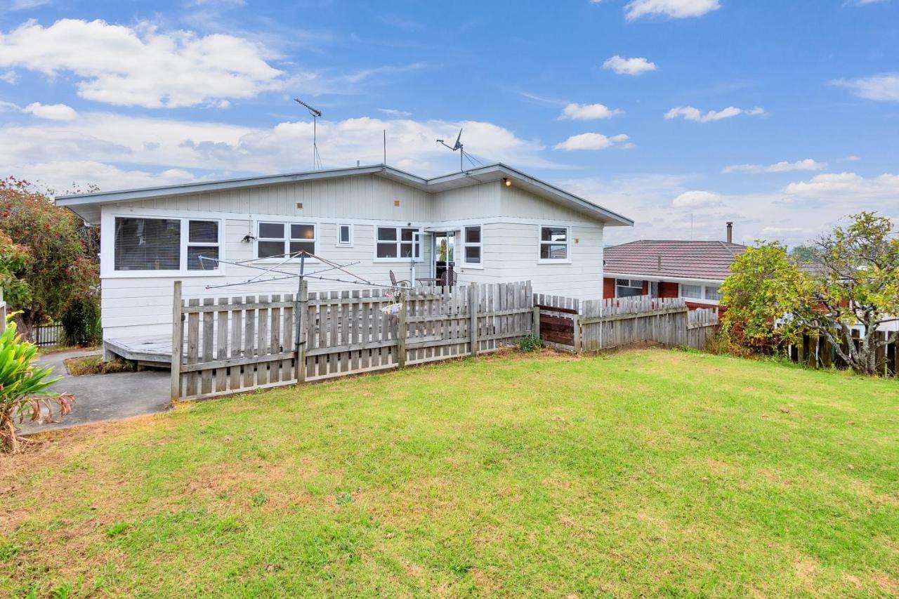
<svg viewBox="0 0 899 599">
<path fill-rule="evenodd" d="M 276 266 L 280 256 L 306 250 L 356 263 L 348 270 L 376 285 L 387 286 L 390 271 L 415 284 L 449 266 L 458 284 L 530 280 L 538 293 L 599 299 L 603 228 L 633 224 L 506 165 L 433 179 L 360 166 L 71 195 L 57 203 L 101 226 L 107 342 L 171 335 L 174 281 L 182 281 L 185 297 L 297 289 L 296 278 L 220 287 L 259 271 L 200 256 Z M 296 273 L 297 263 L 277 270 Z M 306 273 L 322 267 L 305 264 Z M 308 284 L 310 291 L 359 288 Z"/>
</svg>

